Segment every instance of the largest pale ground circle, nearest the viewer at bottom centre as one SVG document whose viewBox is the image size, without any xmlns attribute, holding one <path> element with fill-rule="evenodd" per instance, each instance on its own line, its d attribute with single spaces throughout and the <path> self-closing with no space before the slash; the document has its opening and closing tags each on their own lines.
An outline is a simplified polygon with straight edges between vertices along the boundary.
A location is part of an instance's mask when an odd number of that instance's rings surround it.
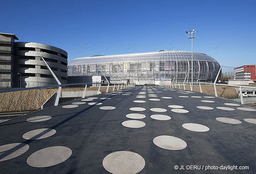
<svg viewBox="0 0 256 174">
<path fill-rule="evenodd" d="M 108 154 L 102 165 L 112 174 L 137 174 L 145 167 L 145 160 L 131 151 L 116 151 Z"/>
</svg>

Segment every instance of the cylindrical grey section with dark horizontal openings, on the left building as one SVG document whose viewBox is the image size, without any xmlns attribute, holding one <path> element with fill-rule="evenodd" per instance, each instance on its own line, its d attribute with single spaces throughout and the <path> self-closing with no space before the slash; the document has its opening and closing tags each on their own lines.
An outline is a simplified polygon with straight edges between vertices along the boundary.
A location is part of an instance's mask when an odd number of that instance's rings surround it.
<svg viewBox="0 0 256 174">
<path fill-rule="evenodd" d="M 41 56 L 57 76 L 61 84 L 67 84 L 67 52 L 54 46 L 34 42 L 15 42 L 13 61 L 14 80 L 22 78 L 22 87 L 57 84 Z M 18 83 L 15 83 L 16 85 Z"/>
</svg>

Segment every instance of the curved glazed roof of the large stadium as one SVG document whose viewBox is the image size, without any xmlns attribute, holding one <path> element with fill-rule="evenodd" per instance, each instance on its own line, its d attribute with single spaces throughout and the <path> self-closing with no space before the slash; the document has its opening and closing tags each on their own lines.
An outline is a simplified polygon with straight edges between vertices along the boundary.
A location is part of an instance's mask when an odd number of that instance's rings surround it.
<svg viewBox="0 0 256 174">
<path fill-rule="evenodd" d="M 170 61 L 170 60 L 191 60 L 191 52 L 185 51 L 163 51 L 158 52 L 145 52 L 124 55 L 96 55 L 91 57 L 76 58 L 70 61 L 68 65 L 78 64 L 97 64 L 97 63 L 110 63 L 110 62 L 124 62 L 124 61 Z M 193 52 L 193 60 L 195 61 L 212 61 L 217 62 L 209 55 Z M 218 63 L 218 62 L 217 62 Z"/>
</svg>

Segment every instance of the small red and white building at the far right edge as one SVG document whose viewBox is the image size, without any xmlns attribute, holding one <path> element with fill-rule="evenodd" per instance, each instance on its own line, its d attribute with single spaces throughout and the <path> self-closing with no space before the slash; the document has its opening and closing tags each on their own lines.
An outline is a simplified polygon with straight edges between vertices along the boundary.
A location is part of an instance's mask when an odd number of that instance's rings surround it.
<svg viewBox="0 0 256 174">
<path fill-rule="evenodd" d="M 235 80 L 256 80 L 255 65 L 234 68 Z"/>
</svg>

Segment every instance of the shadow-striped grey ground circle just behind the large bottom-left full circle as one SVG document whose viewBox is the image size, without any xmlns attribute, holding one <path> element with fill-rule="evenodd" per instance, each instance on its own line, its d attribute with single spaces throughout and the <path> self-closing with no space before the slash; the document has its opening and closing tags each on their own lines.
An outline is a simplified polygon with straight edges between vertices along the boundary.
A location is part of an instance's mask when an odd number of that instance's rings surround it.
<svg viewBox="0 0 256 174">
<path fill-rule="evenodd" d="M 55 129 L 43 128 L 29 131 L 23 134 L 23 139 L 43 139 L 56 133 Z"/>
</svg>

